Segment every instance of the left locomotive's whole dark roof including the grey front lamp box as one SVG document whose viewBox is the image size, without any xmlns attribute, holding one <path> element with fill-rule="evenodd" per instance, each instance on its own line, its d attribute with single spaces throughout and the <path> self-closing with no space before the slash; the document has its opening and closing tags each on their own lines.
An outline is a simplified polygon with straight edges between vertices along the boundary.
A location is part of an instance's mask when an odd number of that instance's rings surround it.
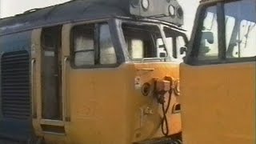
<svg viewBox="0 0 256 144">
<path fill-rule="evenodd" d="M 182 26 L 183 11 L 176 1 L 150 0 L 148 10 L 130 5 L 130 0 L 74 0 L 42 9 L 28 10 L 23 14 L 0 20 L 0 34 L 9 34 L 21 30 L 58 25 L 82 20 L 106 17 L 152 18 Z M 169 6 L 177 9 L 177 14 L 170 16 Z M 179 12 L 179 13 L 178 13 Z"/>
</svg>

